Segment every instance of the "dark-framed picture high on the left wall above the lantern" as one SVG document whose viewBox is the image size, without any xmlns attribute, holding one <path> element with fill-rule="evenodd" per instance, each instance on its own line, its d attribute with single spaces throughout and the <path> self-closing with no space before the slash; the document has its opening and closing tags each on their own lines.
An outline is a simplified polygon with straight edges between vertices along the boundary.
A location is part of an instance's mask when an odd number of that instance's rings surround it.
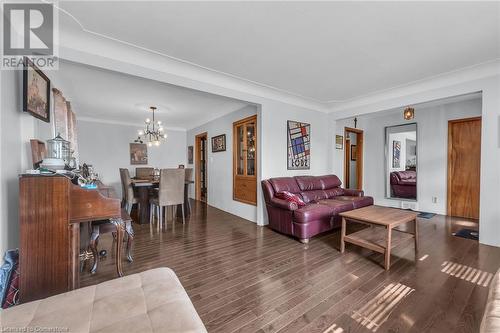
<svg viewBox="0 0 500 333">
<path fill-rule="evenodd" d="M 23 67 L 23 110 L 50 123 L 50 80 L 26 57 Z"/>
</svg>

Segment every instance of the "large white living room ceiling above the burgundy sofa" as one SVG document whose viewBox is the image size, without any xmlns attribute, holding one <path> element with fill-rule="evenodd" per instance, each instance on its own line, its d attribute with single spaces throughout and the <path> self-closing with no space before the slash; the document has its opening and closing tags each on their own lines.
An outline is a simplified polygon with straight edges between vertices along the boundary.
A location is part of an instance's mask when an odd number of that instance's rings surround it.
<svg viewBox="0 0 500 333">
<path fill-rule="evenodd" d="M 60 2 L 92 32 L 317 101 L 500 58 L 499 2 Z"/>
</svg>

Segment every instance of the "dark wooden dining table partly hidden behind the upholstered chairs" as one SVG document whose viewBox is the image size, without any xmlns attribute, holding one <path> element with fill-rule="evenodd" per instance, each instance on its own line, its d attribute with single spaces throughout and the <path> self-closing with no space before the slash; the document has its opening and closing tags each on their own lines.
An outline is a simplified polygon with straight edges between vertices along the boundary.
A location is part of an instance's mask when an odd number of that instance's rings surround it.
<svg viewBox="0 0 500 333">
<path fill-rule="evenodd" d="M 136 223 L 139 224 L 148 224 L 149 216 L 150 216 L 150 205 L 149 205 L 149 197 L 151 189 L 157 188 L 160 185 L 159 179 L 137 179 L 132 178 L 132 186 L 137 191 L 137 203 L 138 203 L 138 212 L 137 212 L 137 220 Z M 194 184 L 192 180 L 186 180 L 184 182 L 184 216 L 188 217 L 191 215 L 191 203 L 189 202 L 189 185 Z M 177 208 L 181 208 L 180 205 Z M 182 217 L 182 210 L 177 209 L 177 214 Z"/>
</svg>

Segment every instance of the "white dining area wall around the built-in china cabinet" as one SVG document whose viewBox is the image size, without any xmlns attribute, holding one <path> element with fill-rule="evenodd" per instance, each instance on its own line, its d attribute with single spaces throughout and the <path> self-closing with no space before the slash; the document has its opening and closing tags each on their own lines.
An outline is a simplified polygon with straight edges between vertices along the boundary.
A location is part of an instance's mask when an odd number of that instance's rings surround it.
<svg viewBox="0 0 500 333">
<path fill-rule="evenodd" d="M 248 105 L 187 132 L 187 145 L 193 147 L 195 136 L 207 132 L 208 204 L 252 222 L 257 222 L 257 207 L 233 200 L 233 123 L 257 113 L 256 106 Z M 220 134 L 226 134 L 226 151 L 212 153 L 211 138 Z M 257 128 L 257 136 L 260 136 L 259 128 Z M 259 150 L 257 154 L 257 161 L 259 161 Z M 190 164 L 188 167 L 194 168 L 194 165 Z M 190 197 L 195 197 L 194 186 L 190 188 Z"/>
</svg>

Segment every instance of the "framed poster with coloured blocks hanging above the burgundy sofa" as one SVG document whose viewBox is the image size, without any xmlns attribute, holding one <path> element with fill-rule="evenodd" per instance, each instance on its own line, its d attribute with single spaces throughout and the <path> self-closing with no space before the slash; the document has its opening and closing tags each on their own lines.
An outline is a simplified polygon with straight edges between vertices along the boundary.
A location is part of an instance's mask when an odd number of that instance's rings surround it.
<svg viewBox="0 0 500 333">
<path fill-rule="evenodd" d="M 298 121 L 287 122 L 288 170 L 311 168 L 311 125 Z"/>
</svg>

